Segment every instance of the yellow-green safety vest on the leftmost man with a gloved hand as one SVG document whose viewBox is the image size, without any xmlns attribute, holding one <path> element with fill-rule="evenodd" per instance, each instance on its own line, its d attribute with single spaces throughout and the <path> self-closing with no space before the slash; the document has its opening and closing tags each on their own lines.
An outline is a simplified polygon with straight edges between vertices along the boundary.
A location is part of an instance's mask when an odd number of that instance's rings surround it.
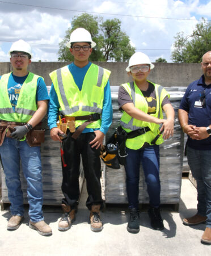
<svg viewBox="0 0 211 256">
<path fill-rule="evenodd" d="M 0 119 L 27 123 L 37 110 L 36 90 L 39 75 L 35 75 L 31 72 L 28 73 L 20 89 L 15 111 L 12 108 L 7 91 L 10 75 L 11 73 L 4 74 L 0 79 Z"/>
</svg>

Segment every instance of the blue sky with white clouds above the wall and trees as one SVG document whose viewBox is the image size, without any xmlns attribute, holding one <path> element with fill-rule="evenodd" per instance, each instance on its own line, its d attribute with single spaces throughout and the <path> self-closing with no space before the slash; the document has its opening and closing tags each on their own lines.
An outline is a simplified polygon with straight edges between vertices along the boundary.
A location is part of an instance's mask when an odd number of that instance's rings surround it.
<svg viewBox="0 0 211 256">
<path fill-rule="evenodd" d="M 57 61 L 58 43 L 73 16 L 84 11 L 104 20 L 120 19 L 137 51 L 151 61 L 162 57 L 172 62 L 174 36 L 191 34 L 201 17 L 211 20 L 211 0 L 0 1 L 0 61 L 9 61 L 10 46 L 19 39 L 31 44 L 32 61 Z"/>
</svg>

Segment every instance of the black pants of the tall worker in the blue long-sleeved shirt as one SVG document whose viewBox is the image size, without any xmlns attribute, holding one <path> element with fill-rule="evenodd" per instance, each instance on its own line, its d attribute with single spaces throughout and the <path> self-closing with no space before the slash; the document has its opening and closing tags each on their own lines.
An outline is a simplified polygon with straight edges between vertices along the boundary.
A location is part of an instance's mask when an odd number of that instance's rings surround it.
<svg viewBox="0 0 211 256">
<path fill-rule="evenodd" d="M 82 156 L 83 170 L 85 173 L 88 198 L 86 206 L 91 209 L 92 204 L 103 206 L 100 185 L 100 149 L 91 148 L 90 141 L 94 140 L 95 133 L 81 133 L 77 140 L 67 132 L 63 140 L 64 158 L 66 167 L 62 164 L 62 192 L 65 196 L 62 203 L 76 208 L 79 199 L 79 167 Z"/>
</svg>

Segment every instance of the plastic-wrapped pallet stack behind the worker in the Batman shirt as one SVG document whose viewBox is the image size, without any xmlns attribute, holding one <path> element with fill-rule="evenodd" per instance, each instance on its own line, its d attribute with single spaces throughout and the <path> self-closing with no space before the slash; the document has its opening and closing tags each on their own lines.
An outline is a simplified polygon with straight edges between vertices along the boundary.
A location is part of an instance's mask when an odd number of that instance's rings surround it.
<svg viewBox="0 0 211 256">
<path fill-rule="evenodd" d="M 161 179 L 161 204 L 178 204 L 182 181 L 184 133 L 180 129 L 178 108 L 185 87 L 168 87 L 170 100 L 175 110 L 174 136 L 160 145 L 160 179 Z M 118 87 L 112 87 L 113 123 L 109 128 L 108 139 L 114 129 L 119 125 L 121 112 L 117 103 Z M 128 203 L 126 196 L 125 170 L 114 170 L 104 166 L 104 196 L 106 203 Z M 139 202 L 149 203 L 146 183 L 142 167 L 140 168 Z"/>
</svg>

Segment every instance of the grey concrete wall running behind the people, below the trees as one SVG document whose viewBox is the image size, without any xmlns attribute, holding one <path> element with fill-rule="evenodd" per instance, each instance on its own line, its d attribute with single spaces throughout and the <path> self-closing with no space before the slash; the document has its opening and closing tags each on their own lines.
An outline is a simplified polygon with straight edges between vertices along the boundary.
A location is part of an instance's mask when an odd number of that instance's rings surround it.
<svg viewBox="0 0 211 256">
<path fill-rule="evenodd" d="M 132 81 L 125 71 L 126 62 L 94 63 L 111 70 L 109 81 L 112 86 L 119 86 L 121 83 Z M 67 64 L 69 62 L 32 62 L 29 65 L 29 70 L 44 77 L 45 83 L 49 86 L 51 84 L 49 73 Z M 0 75 L 9 73 L 11 68 L 10 62 L 0 62 Z M 196 63 L 155 63 L 155 68 L 150 72 L 149 80 L 166 87 L 188 86 L 192 81 L 199 79 L 201 74 L 201 65 Z"/>
</svg>

